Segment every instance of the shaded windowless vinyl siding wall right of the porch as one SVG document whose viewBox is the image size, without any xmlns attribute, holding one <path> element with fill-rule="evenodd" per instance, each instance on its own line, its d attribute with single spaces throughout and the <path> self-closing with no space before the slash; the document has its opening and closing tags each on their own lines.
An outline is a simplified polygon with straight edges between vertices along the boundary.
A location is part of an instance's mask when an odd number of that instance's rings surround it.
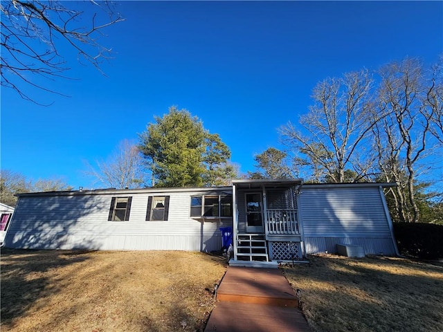
<svg viewBox="0 0 443 332">
<path fill-rule="evenodd" d="M 302 187 L 300 214 L 307 253 L 336 252 L 336 243 L 356 244 L 365 253 L 395 255 L 378 187 Z"/>
</svg>

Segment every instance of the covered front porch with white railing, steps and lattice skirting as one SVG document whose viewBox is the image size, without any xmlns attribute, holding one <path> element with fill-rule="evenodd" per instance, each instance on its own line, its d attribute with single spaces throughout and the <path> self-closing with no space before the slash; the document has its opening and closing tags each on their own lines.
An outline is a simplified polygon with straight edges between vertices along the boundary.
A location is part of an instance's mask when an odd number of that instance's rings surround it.
<svg viewBox="0 0 443 332">
<path fill-rule="evenodd" d="M 277 266 L 302 259 L 301 185 L 302 179 L 233 181 L 231 266 Z"/>
</svg>

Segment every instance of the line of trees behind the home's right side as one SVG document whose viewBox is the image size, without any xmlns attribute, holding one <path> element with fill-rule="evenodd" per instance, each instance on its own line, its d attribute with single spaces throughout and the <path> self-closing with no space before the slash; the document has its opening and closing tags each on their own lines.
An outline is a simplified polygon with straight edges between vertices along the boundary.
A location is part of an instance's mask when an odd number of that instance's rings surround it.
<svg viewBox="0 0 443 332">
<path fill-rule="evenodd" d="M 248 176 L 396 182 L 386 192 L 396 221 L 443 222 L 443 193 L 426 190 L 442 178 L 420 180 L 442 171 L 442 83 L 441 61 L 426 67 L 416 58 L 327 78 L 298 124 L 280 127 L 284 148 L 255 156 Z"/>
</svg>

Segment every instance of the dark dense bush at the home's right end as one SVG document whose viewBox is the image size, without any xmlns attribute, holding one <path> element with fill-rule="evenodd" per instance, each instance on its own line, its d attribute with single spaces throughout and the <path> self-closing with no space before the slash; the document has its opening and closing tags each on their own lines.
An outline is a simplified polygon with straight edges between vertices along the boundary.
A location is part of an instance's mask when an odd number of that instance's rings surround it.
<svg viewBox="0 0 443 332">
<path fill-rule="evenodd" d="M 401 255 L 420 259 L 443 258 L 443 225 L 393 223 Z"/>
</svg>

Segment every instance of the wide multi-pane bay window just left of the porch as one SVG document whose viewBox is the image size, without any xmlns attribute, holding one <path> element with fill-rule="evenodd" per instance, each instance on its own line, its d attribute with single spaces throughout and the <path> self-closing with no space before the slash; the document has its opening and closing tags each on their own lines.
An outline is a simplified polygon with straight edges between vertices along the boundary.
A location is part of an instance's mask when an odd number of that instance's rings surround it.
<svg viewBox="0 0 443 332">
<path fill-rule="evenodd" d="M 221 218 L 233 216 L 232 195 L 192 196 L 190 216 Z"/>
</svg>

